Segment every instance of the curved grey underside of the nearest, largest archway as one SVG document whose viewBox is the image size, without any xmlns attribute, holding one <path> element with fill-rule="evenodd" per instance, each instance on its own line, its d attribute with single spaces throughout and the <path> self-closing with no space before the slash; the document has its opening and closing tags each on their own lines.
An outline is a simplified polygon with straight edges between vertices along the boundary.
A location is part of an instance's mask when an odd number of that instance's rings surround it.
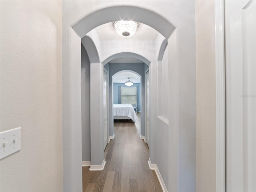
<svg viewBox="0 0 256 192">
<path fill-rule="evenodd" d="M 104 15 L 104 17 L 102 17 L 102 15 Z M 85 16 L 72 27 L 80 38 L 82 38 L 97 26 L 118 20 L 134 20 L 144 23 L 157 30 L 166 39 L 168 39 L 175 30 L 174 25 L 156 12 L 138 6 L 128 5 L 102 8 Z"/>
</svg>

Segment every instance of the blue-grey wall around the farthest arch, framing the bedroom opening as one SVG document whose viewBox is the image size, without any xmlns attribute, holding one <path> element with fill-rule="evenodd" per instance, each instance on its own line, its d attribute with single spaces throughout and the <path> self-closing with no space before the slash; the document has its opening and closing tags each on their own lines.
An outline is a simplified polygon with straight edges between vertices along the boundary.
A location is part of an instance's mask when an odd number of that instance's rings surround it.
<svg viewBox="0 0 256 192">
<path fill-rule="evenodd" d="M 110 63 L 109 67 L 109 135 L 114 133 L 112 76 L 122 70 L 132 70 L 141 76 L 141 124 L 140 132 L 145 136 L 145 70 L 144 63 Z M 112 115 L 111 115 L 112 114 Z"/>
</svg>

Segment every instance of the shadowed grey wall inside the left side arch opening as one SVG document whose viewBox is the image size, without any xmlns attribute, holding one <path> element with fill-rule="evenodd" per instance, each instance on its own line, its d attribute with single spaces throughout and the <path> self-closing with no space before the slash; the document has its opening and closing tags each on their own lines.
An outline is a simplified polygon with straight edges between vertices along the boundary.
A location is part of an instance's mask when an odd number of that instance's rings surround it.
<svg viewBox="0 0 256 192">
<path fill-rule="evenodd" d="M 90 61 L 81 44 L 82 161 L 90 161 Z"/>
</svg>

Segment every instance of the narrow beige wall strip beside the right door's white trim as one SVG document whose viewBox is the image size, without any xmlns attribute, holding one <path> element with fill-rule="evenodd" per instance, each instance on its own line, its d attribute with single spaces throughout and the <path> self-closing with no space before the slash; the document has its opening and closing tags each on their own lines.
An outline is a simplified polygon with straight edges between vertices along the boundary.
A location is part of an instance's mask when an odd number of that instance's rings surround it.
<svg viewBox="0 0 256 192">
<path fill-rule="evenodd" d="M 214 1 L 196 1 L 196 191 L 216 191 Z M 202 19 L 204 18 L 204 19 Z"/>
</svg>

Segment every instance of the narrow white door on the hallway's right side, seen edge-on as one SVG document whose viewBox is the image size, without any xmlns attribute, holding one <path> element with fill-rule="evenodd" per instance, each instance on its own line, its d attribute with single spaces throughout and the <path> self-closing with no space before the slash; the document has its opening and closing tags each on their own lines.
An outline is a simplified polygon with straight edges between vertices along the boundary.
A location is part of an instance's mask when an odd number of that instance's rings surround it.
<svg viewBox="0 0 256 192">
<path fill-rule="evenodd" d="M 149 121 L 149 71 L 146 72 L 146 142 L 148 143 L 148 147 L 149 147 L 149 143 L 150 143 L 150 137 L 149 137 L 149 125 L 150 125 L 150 121 Z"/>
</svg>

